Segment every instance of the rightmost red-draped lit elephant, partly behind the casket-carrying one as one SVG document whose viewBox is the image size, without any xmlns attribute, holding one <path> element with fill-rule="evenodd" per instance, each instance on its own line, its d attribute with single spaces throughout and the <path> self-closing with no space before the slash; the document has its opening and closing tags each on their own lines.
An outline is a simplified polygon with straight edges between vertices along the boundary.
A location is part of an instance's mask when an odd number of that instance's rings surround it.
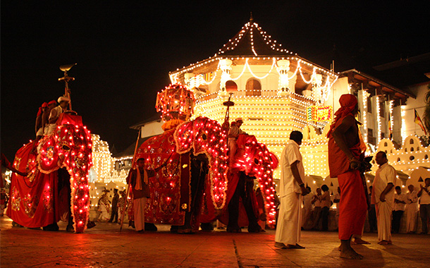
<svg viewBox="0 0 430 268">
<path fill-rule="evenodd" d="M 240 232 L 240 227 L 248 226 L 249 232 L 262 231 L 257 224 L 259 210 L 254 193 L 254 181 L 257 180 L 264 196 L 265 211 L 268 212 L 268 224 L 275 224 L 275 203 L 273 173 L 278 166 L 278 159 L 269 152 L 266 145 L 257 142 L 254 135 L 240 134 L 237 140 L 238 150 L 232 156 L 233 166 L 228 172 L 228 207 L 215 213 L 216 219 L 227 225 L 227 231 Z M 205 203 L 202 222 L 214 220 L 210 202 Z M 209 213 L 207 213 L 209 212 Z"/>
</svg>

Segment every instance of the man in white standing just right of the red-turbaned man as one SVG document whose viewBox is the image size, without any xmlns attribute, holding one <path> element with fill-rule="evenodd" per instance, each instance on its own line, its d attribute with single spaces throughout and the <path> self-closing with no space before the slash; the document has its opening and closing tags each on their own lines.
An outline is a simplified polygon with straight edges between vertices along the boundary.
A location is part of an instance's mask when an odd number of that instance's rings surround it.
<svg viewBox="0 0 430 268">
<path fill-rule="evenodd" d="M 375 157 L 379 169 L 373 183 L 371 202 L 376 207 L 376 219 L 378 219 L 378 240 L 381 245 L 392 244 L 391 241 L 391 214 L 394 207 L 394 185 L 396 172 L 393 166 L 387 162 L 385 152 L 378 152 Z"/>
</svg>

